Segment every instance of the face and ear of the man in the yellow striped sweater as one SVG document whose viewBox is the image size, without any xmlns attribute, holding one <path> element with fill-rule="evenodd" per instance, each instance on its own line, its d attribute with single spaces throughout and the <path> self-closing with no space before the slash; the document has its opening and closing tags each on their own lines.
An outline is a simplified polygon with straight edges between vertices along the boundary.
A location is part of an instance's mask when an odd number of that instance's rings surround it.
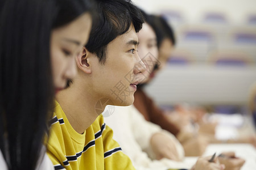
<svg viewBox="0 0 256 170">
<path fill-rule="evenodd" d="M 106 98 L 112 105 L 131 105 L 139 79 L 146 67 L 137 53 L 138 36 L 134 26 L 109 42 L 106 62 L 93 58 L 92 87 L 94 95 Z"/>
</svg>

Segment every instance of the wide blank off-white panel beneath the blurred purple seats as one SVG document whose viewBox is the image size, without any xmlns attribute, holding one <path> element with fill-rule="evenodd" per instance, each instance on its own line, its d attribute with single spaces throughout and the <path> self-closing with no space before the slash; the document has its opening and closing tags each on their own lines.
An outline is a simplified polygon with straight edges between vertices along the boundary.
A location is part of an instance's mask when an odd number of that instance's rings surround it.
<svg viewBox="0 0 256 170">
<path fill-rule="evenodd" d="M 256 67 L 170 66 L 146 86 L 160 105 L 246 105 L 256 80 Z"/>
</svg>

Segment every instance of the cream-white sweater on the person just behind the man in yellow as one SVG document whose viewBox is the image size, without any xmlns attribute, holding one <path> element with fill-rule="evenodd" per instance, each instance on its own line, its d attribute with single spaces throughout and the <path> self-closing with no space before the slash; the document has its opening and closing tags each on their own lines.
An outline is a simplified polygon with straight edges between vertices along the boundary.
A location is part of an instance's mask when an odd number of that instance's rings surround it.
<svg viewBox="0 0 256 170">
<path fill-rule="evenodd" d="M 184 157 L 183 147 L 171 133 L 162 130 L 158 125 L 144 119 L 141 113 L 133 106 L 129 107 L 106 107 L 109 109 L 108 117 L 104 117 L 105 123 L 113 129 L 113 139 L 119 143 L 123 152 L 129 156 L 136 169 L 168 169 L 168 168 L 191 168 L 184 162 L 175 162 L 169 159 L 154 159 L 150 147 L 150 138 L 154 133 L 164 133 L 176 143 L 180 158 Z M 114 109 L 113 109 L 114 108 Z M 111 111 L 110 111 L 111 110 Z M 113 111 L 114 110 L 114 111 Z M 103 112 L 103 115 L 104 115 Z"/>
</svg>

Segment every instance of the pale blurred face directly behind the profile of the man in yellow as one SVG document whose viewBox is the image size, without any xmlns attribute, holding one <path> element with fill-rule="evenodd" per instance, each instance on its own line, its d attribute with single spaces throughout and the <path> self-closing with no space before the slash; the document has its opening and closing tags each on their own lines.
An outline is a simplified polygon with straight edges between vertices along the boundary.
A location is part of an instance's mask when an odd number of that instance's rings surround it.
<svg viewBox="0 0 256 170">
<path fill-rule="evenodd" d="M 139 31 L 138 39 L 138 54 L 146 65 L 146 71 L 143 73 L 144 79 L 140 83 L 145 83 L 151 78 L 155 63 L 158 61 L 158 46 L 155 32 L 147 23 L 144 23 Z"/>
</svg>

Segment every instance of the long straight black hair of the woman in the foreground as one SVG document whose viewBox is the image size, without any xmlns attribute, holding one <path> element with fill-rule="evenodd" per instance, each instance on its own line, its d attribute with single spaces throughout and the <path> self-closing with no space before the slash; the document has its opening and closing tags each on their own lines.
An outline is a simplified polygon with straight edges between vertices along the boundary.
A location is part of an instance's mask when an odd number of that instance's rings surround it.
<svg viewBox="0 0 256 170">
<path fill-rule="evenodd" d="M 3 0 L 0 147 L 9 169 L 35 169 L 53 103 L 51 30 L 90 12 L 89 0 Z"/>
</svg>

